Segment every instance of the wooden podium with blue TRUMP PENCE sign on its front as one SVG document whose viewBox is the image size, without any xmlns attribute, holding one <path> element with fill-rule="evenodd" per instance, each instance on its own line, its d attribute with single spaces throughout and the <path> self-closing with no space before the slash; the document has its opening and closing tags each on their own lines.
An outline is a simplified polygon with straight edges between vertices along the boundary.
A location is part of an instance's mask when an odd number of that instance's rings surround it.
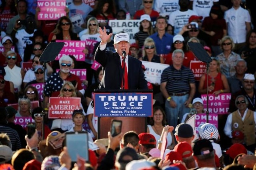
<svg viewBox="0 0 256 170">
<path fill-rule="evenodd" d="M 94 116 L 98 116 L 98 139 L 108 138 L 111 120 L 122 121 L 122 133 L 147 132 L 152 116 L 152 90 L 94 90 Z"/>
</svg>

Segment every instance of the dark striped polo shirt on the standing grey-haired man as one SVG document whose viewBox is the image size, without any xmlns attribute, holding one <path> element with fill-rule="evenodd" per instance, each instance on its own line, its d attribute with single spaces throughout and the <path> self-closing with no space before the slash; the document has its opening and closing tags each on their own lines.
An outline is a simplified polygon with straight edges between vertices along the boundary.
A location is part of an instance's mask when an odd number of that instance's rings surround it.
<svg viewBox="0 0 256 170">
<path fill-rule="evenodd" d="M 182 93 L 190 91 L 190 83 L 195 83 L 195 78 L 192 70 L 185 66 L 181 66 L 180 70 L 171 65 L 165 68 L 161 75 L 161 83 L 166 83 L 168 94 Z"/>
</svg>

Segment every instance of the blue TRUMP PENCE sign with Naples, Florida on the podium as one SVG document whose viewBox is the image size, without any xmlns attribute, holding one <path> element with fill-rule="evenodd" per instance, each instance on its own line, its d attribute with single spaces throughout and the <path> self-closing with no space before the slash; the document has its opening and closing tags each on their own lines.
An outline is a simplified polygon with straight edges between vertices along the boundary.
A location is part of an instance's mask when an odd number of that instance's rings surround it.
<svg viewBox="0 0 256 170">
<path fill-rule="evenodd" d="M 94 93 L 98 117 L 152 116 L 152 93 Z"/>
</svg>

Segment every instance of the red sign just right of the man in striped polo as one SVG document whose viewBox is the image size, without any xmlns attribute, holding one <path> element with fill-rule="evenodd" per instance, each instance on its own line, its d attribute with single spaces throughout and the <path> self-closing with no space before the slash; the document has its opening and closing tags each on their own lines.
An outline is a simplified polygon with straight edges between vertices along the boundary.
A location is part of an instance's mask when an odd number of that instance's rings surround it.
<svg viewBox="0 0 256 170">
<path fill-rule="evenodd" d="M 190 61 L 189 68 L 194 73 L 194 77 L 196 81 L 200 80 L 200 77 L 206 73 L 206 65 L 202 61 Z"/>
</svg>

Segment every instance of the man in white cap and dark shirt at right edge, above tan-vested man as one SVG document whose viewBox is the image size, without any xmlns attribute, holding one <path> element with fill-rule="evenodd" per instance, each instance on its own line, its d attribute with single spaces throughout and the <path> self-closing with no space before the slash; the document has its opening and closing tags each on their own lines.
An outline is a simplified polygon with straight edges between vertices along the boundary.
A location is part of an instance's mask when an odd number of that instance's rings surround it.
<svg viewBox="0 0 256 170">
<path fill-rule="evenodd" d="M 252 111 L 256 111 L 256 89 L 255 86 L 255 77 L 253 74 L 245 74 L 244 80 L 242 83 L 242 88 L 240 91 L 231 95 L 230 104 L 229 104 L 229 112 L 232 113 L 236 111 L 238 108 L 236 107 L 236 97 L 239 95 L 244 95 L 248 100 L 248 109 Z"/>
</svg>

